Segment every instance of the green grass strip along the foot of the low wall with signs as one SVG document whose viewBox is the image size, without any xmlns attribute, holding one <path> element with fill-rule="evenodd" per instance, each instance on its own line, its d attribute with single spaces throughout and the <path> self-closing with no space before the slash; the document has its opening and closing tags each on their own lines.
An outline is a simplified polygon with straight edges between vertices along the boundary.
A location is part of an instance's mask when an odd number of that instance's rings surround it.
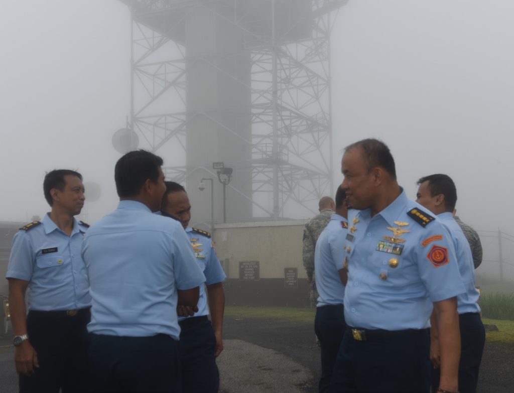
<svg viewBox="0 0 514 393">
<path fill-rule="evenodd" d="M 269 318 L 280 321 L 314 322 L 315 314 L 314 307 L 225 307 L 225 315 L 238 319 Z"/>
</svg>

